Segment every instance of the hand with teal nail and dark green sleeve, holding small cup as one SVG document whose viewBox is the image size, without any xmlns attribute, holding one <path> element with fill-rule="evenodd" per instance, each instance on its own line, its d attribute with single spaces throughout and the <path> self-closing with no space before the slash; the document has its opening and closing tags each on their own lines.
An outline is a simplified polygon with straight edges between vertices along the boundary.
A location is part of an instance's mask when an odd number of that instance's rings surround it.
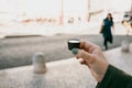
<svg viewBox="0 0 132 88">
<path fill-rule="evenodd" d="M 79 50 L 73 48 L 72 52 L 89 68 L 98 82 L 96 88 L 132 88 L 132 76 L 110 65 L 96 44 L 80 42 Z"/>
</svg>

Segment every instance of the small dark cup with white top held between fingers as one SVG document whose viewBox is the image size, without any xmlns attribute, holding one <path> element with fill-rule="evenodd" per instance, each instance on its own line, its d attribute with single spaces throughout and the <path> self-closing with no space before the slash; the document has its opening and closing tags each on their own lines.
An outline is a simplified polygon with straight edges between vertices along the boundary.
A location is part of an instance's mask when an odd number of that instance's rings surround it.
<svg viewBox="0 0 132 88">
<path fill-rule="evenodd" d="M 79 48 L 80 41 L 77 38 L 70 38 L 68 40 L 68 50 L 72 51 L 73 48 Z"/>
</svg>

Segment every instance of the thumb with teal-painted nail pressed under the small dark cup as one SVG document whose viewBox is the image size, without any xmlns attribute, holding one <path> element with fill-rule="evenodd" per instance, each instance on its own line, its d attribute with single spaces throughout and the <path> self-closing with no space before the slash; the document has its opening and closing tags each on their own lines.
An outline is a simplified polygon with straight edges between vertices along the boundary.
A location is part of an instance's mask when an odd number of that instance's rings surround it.
<svg viewBox="0 0 132 88">
<path fill-rule="evenodd" d="M 88 52 L 78 48 L 73 48 L 72 52 L 77 58 L 82 58 L 88 64 L 94 63 L 94 56 Z"/>
</svg>

